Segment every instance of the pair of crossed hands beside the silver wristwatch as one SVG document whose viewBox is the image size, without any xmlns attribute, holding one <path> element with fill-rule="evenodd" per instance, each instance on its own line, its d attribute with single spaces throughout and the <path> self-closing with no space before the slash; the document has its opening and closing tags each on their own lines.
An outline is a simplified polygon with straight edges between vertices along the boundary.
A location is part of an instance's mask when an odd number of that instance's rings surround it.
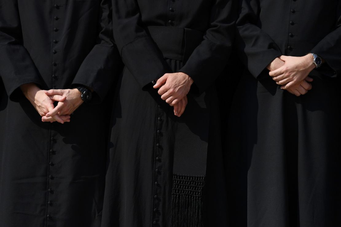
<svg viewBox="0 0 341 227">
<path fill-rule="evenodd" d="M 300 96 L 311 90 L 312 78 L 309 73 L 315 68 L 313 56 L 307 54 L 302 57 L 280 56 L 268 66 L 269 75 L 283 90 Z"/>
</svg>

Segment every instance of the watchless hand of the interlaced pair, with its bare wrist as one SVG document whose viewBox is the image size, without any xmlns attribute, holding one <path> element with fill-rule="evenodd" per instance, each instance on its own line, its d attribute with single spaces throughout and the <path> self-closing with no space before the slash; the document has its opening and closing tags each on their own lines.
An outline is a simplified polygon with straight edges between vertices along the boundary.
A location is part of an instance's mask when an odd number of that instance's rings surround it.
<svg viewBox="0 0 341 227">
<path fill-rule="evenodd" d="M 55 101 L 63 102 L 66 99 L 66 97 L 60 95 L 55 95 L 53 99 L 51 99 L 45 94 L 44 90 L 41 90 L 34 83 L 21 85 L 20 89 L 40 116 L 45 116 L 48 112 L 52 111 L 55 108 L 53 104 Z M 55 115 L 51 122 L 53 121 L 58 121 L 61 124 L 64 124 L 64 122 L 70 122 L 70 115 Z"/>
</svg>

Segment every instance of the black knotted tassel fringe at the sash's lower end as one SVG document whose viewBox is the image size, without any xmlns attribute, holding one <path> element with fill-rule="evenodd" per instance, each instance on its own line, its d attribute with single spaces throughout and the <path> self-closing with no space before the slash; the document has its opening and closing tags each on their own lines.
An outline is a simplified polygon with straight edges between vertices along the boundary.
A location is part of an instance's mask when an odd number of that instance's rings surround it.
<svg viewBox="0 0 341 227">
<path fill-rule="evenodd" d="M 204 176 L 173 175 L 171 227 L 203 227 Z"/>
</svg>

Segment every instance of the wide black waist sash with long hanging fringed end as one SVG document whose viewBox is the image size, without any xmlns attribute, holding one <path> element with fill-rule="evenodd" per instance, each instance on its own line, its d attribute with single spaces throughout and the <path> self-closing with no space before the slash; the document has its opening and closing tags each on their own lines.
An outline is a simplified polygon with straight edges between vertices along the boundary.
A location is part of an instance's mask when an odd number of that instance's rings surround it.
<svg viewBox="0 0 341 227">
<path fill-rule="evenodd" d="M 202 32 L 175 27 L 150 26 L 150 36 L 164 58 L 186 64 L 202 42 Z M 208 94 L 188 95 L 184 114 L 177 118 L 172 190 L 172 227 L 202 226 L 209 131 Z"/>
</svg>

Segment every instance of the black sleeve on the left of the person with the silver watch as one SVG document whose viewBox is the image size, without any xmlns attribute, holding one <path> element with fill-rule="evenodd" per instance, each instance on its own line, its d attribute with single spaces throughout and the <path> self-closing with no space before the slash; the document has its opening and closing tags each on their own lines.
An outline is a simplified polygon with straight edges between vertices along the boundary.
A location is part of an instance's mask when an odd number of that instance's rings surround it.
<svg viewBox="0 0 341 227">
<path fill-rule="evenodd" d="M 240 3 L 236 47 L 242 63 L 257 78 L 282 53 L 272 38 L 257 26 L 260 13 L 258 1 L 241 0 Z"/>
</svg>

